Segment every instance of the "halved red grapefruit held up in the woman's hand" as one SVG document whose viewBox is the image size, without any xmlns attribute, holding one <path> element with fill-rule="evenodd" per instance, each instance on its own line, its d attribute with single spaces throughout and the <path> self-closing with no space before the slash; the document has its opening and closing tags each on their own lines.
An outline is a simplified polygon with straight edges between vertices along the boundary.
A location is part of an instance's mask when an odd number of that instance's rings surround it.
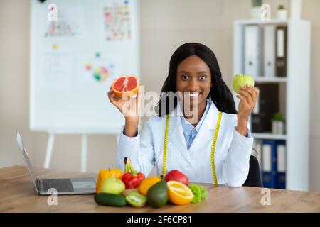
<svg viewBox="0 0 320 227">
<path fill-rule="evenodd" d="M 114 79 L 111 89 L 119 98 L 134 96 L 139 90 L 139 79 L 134 75 L 122 75 Z"/>
</svg>

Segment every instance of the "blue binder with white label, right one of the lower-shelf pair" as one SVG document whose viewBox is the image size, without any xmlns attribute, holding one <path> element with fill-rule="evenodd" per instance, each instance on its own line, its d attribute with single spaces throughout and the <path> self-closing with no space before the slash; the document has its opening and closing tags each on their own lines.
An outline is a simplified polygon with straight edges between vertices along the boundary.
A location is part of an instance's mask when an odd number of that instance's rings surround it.
<svg viewBox="0 0 320 227">
<path fill-rule="evenodd" d="M 286 141 L 277 141 L 277 189 L 286 189 Z"/>
</svg>

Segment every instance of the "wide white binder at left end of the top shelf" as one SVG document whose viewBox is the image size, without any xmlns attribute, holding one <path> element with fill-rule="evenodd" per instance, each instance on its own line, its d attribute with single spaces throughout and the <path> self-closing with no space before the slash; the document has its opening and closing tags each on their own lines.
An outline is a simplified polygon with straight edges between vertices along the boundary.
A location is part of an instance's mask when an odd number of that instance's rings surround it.
<svg viewBox="0 0 320 227">
<path fill-rule="evenodd" d="M 252 77 L 262 75 L 262 28 L 245 26 L 245 74 Z"/>
</svg>

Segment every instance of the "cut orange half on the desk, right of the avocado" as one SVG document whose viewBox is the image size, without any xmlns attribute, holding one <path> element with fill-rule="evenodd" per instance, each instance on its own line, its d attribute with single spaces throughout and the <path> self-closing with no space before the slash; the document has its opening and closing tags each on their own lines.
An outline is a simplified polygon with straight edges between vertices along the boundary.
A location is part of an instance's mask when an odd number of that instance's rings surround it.
<svg viewBox="0 0 320 227">
<path fill-rule="evenodd" d="M 167 182 L 168 191 L 169 191 L 169 201 L 176 205 L 188 204 L 193 200 L 193 192 L 191 189 L 180 182 L 171 180 Z"/>
</svg>

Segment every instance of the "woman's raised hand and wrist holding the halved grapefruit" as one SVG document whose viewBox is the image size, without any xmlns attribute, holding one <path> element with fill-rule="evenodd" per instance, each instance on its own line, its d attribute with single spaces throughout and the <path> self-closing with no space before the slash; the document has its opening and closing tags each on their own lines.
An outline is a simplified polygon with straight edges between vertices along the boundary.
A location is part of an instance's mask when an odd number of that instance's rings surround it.
<svg viewBox="0 0 320 227">
<path fill-rule="evenodd" d="M 135 136 L 137 134 L 137 127 L 139 125 L 139 107 L 142 99 L 142 86 L 139 87 L 137 97 L 122 97 L 115 95 L 110 87 L 108 92 L 109 100 L 125 118 L 125 134 L 127 136 Z"/>
</svg>

